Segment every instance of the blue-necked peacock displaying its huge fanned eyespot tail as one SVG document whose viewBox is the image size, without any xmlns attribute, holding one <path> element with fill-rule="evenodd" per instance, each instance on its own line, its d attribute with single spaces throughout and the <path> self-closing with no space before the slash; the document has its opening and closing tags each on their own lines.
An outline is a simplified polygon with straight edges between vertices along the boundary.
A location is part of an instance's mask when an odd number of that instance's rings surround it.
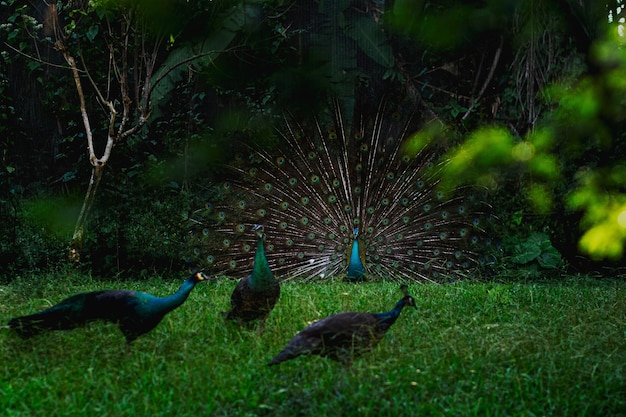
<svg viewBox="0 0 626 417">
<path fill-rule="evenodd" d="M 249 231 L 262 224 L 281 280 L 467 276 L 478 259 L 480 205 L 472 193 L 438 190 L 435 146 L 405 153 L 409 120 L 381 104 L 375 117 L 348 123 L 335 103 L 331 123 L 287 121 L 279 146 L 240 154 L 226 171 L 223 200 L 196 213 L 198 266 L 249 274 Z"/>
</svg>

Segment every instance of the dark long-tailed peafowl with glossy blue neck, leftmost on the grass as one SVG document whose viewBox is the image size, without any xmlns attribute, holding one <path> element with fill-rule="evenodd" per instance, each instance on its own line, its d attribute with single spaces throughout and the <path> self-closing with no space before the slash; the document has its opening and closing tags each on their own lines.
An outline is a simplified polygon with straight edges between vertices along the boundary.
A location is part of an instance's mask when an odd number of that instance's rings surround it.
<svg viewBox="0 0 626 417">
<path fill-rule="evenodd" d="M 70 330 L 92 321 L 116 323 L 130 344 L 148 333 L 163 317 L 185 302 L 195 285 L 207 277 L 196 272 L 168 297 L 131 290 L 103 290 L 73 295 L 39 313 L 15 317 L 8 326 L 29 338 L 48 330 Z"/>
</svg>

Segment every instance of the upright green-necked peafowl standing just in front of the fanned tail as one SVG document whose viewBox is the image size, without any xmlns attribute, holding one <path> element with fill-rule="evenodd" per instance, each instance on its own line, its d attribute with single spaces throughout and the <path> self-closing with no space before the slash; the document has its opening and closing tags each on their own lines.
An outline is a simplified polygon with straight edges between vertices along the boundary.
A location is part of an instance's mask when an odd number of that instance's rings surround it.
<svg viewBox="0 0 626 417">
<path fill-rule="evenodd" d="M 252 272 L 241 279 L 231 297 L 231 310 L 222 313 L 227 320 L 250 322 L 265 320 L 280 297 L 280 284 L 265 257 L 265 234 L 263 227 L 255 225 L 256 249 Z"/>
</svg>

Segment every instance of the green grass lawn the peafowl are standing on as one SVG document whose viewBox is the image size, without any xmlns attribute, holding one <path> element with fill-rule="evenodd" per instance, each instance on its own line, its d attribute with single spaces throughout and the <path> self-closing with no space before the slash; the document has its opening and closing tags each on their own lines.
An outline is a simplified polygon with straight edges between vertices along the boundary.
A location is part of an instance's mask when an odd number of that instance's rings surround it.
<svg viewBox="0 0 626 417">
<path fill-rule="evenodd" d="M 101 288 L 165 295 L 183 278 L 44 274 L 0 287 L 0 315 Z M 418 310 L 351 368 L 266 363 L 309 321 L 391 309 L 397 284 L 284 284 L 261 333 L 219 316 L 234 284 L 199 284 L 131 353 L 109 324 L 30 340 L 2 330 L 0 415 L 626 415 L 625 282 L 412 285 Z"/>
</svg>

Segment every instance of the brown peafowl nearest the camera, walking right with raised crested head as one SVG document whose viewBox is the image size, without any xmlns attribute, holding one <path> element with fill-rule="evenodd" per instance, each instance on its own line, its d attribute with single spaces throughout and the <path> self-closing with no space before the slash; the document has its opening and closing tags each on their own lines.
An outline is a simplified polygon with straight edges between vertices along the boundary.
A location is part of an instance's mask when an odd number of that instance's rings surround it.
<svg viewBox="0 0 626 417">
<path fill-rule="evenodd" d="M 350 364 L 352 358 L 375 347 L 404 307 L 415 300 L 402 285 L 404 297 L 385 313 L 339 313 L 309 324 L 287 343 L 268 365 L 277 365 L 301 355 L 320 355 Z"/>
</svg>

